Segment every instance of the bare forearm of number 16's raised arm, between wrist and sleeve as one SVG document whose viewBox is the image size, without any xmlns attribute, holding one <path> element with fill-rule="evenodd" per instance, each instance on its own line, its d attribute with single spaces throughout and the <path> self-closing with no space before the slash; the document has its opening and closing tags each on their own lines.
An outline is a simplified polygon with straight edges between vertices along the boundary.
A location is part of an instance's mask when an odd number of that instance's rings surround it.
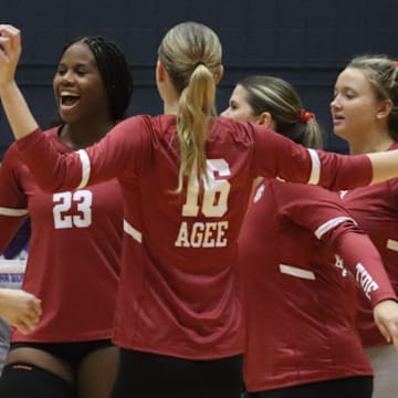
<svg viewBox="0 0 398 398">
<path fill-rule="evenodd" d="M 38 124 L 15 81 L 0 86 L 0 96 L 15 139 L 23 138 L 38 128 Z"/>
</svg>

